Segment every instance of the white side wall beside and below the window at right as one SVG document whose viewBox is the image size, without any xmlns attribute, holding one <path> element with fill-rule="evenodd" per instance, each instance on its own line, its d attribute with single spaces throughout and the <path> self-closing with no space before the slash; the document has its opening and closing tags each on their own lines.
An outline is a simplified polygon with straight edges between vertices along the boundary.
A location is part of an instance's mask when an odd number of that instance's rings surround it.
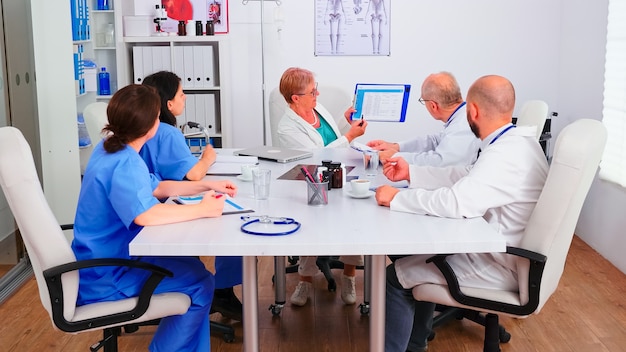
<svg viewBox="0 0 626 352">
<path fill-rule="evenodd" d="M 563 6 L 557 129 L 579 118 L 602 118 L 608 0 L 567 1 Z M 626 190 L 596 179 L 576 234 L 626 273 Z"/>
</svg>

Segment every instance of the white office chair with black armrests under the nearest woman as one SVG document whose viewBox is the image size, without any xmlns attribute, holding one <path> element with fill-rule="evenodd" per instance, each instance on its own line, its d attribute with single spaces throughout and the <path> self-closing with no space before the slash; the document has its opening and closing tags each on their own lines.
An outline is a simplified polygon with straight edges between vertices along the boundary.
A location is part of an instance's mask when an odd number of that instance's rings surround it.
<svg viewBox="0 0 626 352">
<path fill-rule="evenodd" d="M 103 339 L 91 350 L 116 352 L 122 328 L 130 333 L 142 325 L 158 324 L 160 318 L 187 312 L 189 296 L 176 292 L 153 294 L 163 278 L 172 276 L 169 270 L 119 258 L 76 260 L 63 234 L 72 226 L 57 223 L 41 189 L 30 147 L 14 127 L 0 128 L 0 185 L 26 245 L 39 298 L 55 328 L 68 333 L 102 329 Z M 138 268 L 149 271 L 151 276 L 138 297 L 76 306 L 78 270 L 95 266 Z M 224 340 L 232 341 L 234 330 L 227 328 L 216 329 L 211 324 L 212 332 L 221 332 Z"/>
</svg>

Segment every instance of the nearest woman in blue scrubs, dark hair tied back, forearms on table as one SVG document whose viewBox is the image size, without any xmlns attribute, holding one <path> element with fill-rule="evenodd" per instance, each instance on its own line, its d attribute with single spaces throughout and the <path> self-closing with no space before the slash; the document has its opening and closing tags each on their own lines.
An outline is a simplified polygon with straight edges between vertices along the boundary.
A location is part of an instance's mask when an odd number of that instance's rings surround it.
<svg viewBox="0 0 626 352">
<path fill-rule="evenodd" d="M 151 351 L 210 351 L 209 309 L 214 278 L 196 257 L 131 257 L 130 241 L 143 226 L 161 225 L 222 214 L 224 198 L 234 196 L 229 181 L 159 181 L 150 174 L 139 150 L 159 128 L 156 90 L 129 85 L 111 98 L 110 132 L 93 151 L 83 178 L 72 249 L 78 260 L 125 258 L 150 262 L 174 273 L 155 293 L 182 292 L 191 298 L 187 313 L 166 317 L 150 344 Z M 158 198 L 206 191 L 198 204 L 164 204 Z M 172 234 L 175 235 L 175 234 Z M 138 295 L 147 274 L 138 269 L 98 267 L 80 270 L 78 304 Z"/>
</svg>

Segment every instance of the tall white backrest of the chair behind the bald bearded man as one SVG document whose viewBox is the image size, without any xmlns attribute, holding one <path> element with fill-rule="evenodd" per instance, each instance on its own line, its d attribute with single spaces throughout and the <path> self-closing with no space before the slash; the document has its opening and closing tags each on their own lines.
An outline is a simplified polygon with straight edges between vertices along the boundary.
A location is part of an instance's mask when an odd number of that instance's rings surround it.
<svg viewBox="0 0 626 352">
<path fill-rule="evenodd" d="M 556 290 L 574 229 L 596 175 L 606 143 L 604 125 L 597 120 L 580 119 L 563 128 L 554 147 L 546 183 L 530 217 L 520 247 L 545 255 L 548 260 L 541 279 L 539 312 Z M 518 261 L 520 298 L 528 282 L 528 261 Z"/>
</svg>

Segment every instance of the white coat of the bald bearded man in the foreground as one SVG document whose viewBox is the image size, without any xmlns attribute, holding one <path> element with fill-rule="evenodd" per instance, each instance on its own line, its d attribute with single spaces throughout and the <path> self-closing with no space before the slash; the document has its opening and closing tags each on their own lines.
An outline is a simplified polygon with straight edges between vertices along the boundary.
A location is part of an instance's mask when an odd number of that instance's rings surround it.
<svg viewBox="0 0 626 352">
<path fill-rule="evenodd" d="M 508 126 L 481 142 L 480 157 L 472 166 L 411 165 L 410 189 L 396 194 L 390 204 L 391 210 L 448 218 L 482 216 L 506 237 L 507 245 L 518 245 L 543 189 L 548 163 L 533 128 L 511 128 L 492 143 Z M 415 229 L 415 235 L 419 236 L 419 229 Z M 503 277 L 506 272 L 516 277 L 515 259 L 504 253 L 455 255 L 451 258 L 453 268 L 460 271 L 460 281 L 463 282 L 464 276 L 472 277 L 468 280 L 475 287 L 487 287 L 501 281 L 504 286 L 511 285 L 511 277 Z M 454 265 L 455 261 L 457 265 Z M 424 282 L 440 282 L 440 274 L 433 273 L 438 270 L 432 264 L 426 265 L 424 256 L 399 259 L 396 271 L 405 288 Z M 482 285 L 481 282 L 489 284 Z"/>
</svg>

